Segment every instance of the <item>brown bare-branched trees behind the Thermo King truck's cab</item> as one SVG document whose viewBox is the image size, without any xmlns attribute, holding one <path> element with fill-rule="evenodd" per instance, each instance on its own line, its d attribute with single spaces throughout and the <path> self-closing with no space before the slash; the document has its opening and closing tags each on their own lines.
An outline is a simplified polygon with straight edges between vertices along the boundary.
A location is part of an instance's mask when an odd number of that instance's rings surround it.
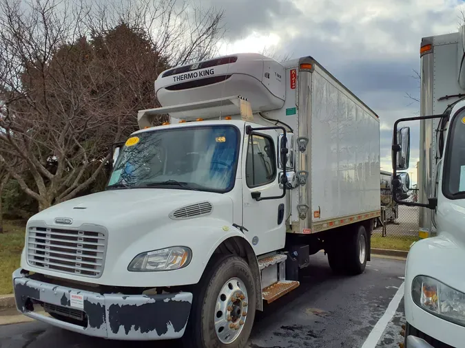
<svg viewBox="0 0 465 348">
<path fill-rule="evenodd" d="M 76 197 L 136 129 L 137 110 L 156 103 L 156 76 L 214 53 L 222 15 L 173 0 L 0 0 L 0 167 L 39 210 Z"/>
</svg>

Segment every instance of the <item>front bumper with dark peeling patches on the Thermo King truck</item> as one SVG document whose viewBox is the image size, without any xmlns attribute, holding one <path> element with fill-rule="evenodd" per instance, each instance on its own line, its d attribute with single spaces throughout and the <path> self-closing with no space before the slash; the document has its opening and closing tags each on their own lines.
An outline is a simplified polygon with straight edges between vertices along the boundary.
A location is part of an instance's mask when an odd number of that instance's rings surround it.
<svg viewBox="0 0 465 348">
<path fill-rule="evenodd" d="M 30 318 L 88 336 L 117 340 L 167 340 L 183 336 L 192 293 L 158 295 L 99 294 L 33 280 L 13 273 L 19 312 Z M 59 320 L 34 312 L 34 304 L 83 320 Z"/>
</svg>

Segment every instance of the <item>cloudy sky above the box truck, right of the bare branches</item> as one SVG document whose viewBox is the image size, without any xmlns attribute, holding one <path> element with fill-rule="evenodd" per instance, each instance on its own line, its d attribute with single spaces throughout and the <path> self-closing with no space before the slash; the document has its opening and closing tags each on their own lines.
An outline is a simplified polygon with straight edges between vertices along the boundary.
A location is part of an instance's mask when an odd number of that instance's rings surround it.
<svg viewBox="0 0 465 348">
<path fill-rule="evenodd" d="M 391 171 L 391 137 L 397 118 L 420 105 L 420 41 L 456 32 L 465 3 L 458 0 L 203 0 L 225 10 L 220 54 L 274 52 L 313 56 L 380 116 L 381 168 Z M 416 182 L 419 122 L 411 126 L 407 170 Z"/>
</svg>

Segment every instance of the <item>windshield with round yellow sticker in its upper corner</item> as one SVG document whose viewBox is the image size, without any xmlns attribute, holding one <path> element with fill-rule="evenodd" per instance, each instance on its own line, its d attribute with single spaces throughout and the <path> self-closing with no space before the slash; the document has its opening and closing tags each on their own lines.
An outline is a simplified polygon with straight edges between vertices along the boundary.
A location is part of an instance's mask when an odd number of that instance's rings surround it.
<svg viewBox="0 0 465 348">
<path fill-rule="evenodd" d="M 139 133 L 121 150 L 107 188 L 226 192 L 234 187 L 239 131 L 196 126 Z"/>
</svg>

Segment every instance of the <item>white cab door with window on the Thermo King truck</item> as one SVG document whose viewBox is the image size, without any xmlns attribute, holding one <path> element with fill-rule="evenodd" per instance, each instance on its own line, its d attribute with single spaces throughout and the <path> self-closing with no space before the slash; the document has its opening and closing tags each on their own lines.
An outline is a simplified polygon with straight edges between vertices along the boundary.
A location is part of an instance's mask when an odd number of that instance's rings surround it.
<svg viewBox="0 0 465 348">
<path fill-rule="evenodd" d="M 285 246 L 285 197 L 272 198 L 282 195 L 278 181 L 279 133 L 262 128 L 245 133 L 242 146 L 242 226 L 256 254 Z"/>
</svg>

